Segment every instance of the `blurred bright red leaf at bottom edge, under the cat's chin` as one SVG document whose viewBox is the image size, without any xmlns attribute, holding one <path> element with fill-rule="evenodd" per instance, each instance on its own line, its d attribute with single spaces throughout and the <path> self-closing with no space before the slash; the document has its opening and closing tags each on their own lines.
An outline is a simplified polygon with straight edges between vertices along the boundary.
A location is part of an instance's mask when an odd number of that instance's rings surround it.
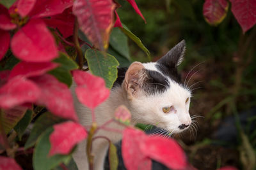
<svg viewBox="0 0 256 170">
<path fill-rule="evenodd" d="M 170 169 L 186 169 L 186 155 L 173 139 L 150 136 L 140 143 L 141 151 L 151 159 L 163 163 Z"/>
</svg>

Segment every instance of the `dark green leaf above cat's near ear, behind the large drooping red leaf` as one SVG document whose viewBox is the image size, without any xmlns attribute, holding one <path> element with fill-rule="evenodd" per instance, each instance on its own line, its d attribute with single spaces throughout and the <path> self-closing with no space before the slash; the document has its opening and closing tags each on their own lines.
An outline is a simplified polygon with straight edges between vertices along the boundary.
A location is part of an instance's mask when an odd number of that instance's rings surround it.
<svg viewBox="0 0 256 170">
<path fill-rule="evenodd" d="M 116 52 L 123 55 L 126 59 L 131 60 L 129 54 L 128 38 L 117 27 L 113 28 L 111 32 L 109 44 L 116 50 Z"/>
</svg>

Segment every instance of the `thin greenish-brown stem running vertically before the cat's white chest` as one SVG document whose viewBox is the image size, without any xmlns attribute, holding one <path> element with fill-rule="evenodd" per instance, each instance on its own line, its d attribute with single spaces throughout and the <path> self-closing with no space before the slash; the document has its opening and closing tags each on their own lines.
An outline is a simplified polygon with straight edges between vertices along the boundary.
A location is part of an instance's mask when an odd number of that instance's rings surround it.
<svg viewBox="0 0 256 170">
<path fill-rule="evenodd" d="M 86 155 L 88 157 L 89 162 L 89 169 L 93 170 L 93 159 L 94 156 L 92 155 L 92 141 L 93 141 L 93 135 L 95 134 L 95 131 L 97 130 L 97 124 L 95 122 L 92 123 L 92 127 L 89 131 L 87 143 L 86 143 Z"/>
</svg>

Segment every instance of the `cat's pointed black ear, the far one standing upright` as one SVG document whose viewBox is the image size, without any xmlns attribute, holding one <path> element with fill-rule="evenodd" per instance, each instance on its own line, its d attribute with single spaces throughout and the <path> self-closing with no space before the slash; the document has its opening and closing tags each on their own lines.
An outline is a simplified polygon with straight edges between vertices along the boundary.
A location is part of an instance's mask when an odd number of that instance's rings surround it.
<svg viewBox="0 0 256 170">
<path fill-rule="evenodd" d="M 167 52 L 166 55 L 157 60 L 157 62 L 166 67 L 177 67 L 183 60 L 185 50 L 186 42 L 183 39 L 179 44 L 175 45 L 169 52 Z"/>
</svg>

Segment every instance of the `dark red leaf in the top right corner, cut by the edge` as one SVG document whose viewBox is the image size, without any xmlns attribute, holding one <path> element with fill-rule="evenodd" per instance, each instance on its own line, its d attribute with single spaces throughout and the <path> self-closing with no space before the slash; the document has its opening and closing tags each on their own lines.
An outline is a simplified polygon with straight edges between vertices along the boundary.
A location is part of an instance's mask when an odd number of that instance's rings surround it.
<svg viewBox="0 0 256 170">
<path fill-rule="evenodd" d="M 256 1 L 255 0 L 230 0 L 231 11 L 241 25 L 243 32 L 248 31 L 256 24 Z"/>
</svg>

